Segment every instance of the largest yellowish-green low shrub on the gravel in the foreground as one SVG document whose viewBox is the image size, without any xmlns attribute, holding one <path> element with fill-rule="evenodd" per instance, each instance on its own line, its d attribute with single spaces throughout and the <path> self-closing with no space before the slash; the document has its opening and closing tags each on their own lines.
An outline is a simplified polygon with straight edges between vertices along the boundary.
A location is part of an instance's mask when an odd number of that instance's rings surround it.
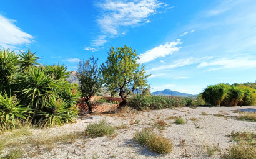
<svg viewBox="0 0 256 159">
<path fill-rule="evenodd" d="M 160 154 L 172 152 L 171 140 L 155 135 L 152 129 L 142 129 L 142 131 L 137 131 L 134 140 L 147 146 L 152 152 Z"/>
</svg>

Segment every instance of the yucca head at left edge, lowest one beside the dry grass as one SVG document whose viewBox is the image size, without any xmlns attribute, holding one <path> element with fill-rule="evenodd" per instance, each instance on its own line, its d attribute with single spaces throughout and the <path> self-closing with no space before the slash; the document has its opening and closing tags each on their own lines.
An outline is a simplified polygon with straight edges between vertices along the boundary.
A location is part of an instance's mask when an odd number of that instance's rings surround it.
<svg viewBox="0 0 256 159">
<path fill-rule="evenodd" d="M 0 130 L 12 129 L 17 120 L 27 119 L 31 110 L 19 104 L 15 96 L 0 94 Z"/>
</svg>

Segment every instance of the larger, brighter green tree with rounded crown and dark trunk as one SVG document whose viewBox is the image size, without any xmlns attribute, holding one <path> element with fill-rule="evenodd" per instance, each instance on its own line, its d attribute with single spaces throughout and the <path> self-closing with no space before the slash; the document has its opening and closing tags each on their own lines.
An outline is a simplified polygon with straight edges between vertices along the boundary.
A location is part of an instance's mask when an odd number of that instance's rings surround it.
<svg viewBox="0 0 256 159">
<path fill-rule="evenodd" d="M 139 57 L 136 50 L 126 45 L 122 47 L 111 47 L 108 52 L 107 61 L 102 63 L 101 72 L 104 83 L 111 92 L 111 96 L 117 93 L 122 98 L 120 106 L 127 103 L 127 96 L 135 90 L 149 92 L 145 67 L 137 63 Z M 145 91 L 147 90 L 147 91 Z"/>
</svg>

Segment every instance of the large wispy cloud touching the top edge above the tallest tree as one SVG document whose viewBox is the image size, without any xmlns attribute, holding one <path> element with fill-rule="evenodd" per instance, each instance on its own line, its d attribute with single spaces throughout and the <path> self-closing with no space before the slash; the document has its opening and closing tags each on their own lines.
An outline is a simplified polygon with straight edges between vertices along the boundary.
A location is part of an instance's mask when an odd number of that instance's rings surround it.
<svg viewBox="0 0 256 159">
<path fill-rule="evenodd" d="M 162 3 L 156 0 L 142 1 L 105 1 L 99 4 L 103 9 L 102 17 L 98 19 L 102 31 L 107 34 L 119 34 L 120 27 L 129 27 L 147 22 L 149 16 L 156 13 Z"/>
</svg>

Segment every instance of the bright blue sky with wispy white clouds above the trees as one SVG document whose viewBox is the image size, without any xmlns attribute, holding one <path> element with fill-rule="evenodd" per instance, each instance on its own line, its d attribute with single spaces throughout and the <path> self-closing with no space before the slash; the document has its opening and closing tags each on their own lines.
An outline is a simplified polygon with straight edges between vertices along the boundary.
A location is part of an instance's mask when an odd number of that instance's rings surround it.
<svg viewBox="0 0 256 159">
<path fill-rule="evenodd" d="M 256 80 L 256 1 L 1 0 L 0 47 L 76 70 L 111 46 L 137 50 L 152 91 L 197 94 Z"/>
</svg>

